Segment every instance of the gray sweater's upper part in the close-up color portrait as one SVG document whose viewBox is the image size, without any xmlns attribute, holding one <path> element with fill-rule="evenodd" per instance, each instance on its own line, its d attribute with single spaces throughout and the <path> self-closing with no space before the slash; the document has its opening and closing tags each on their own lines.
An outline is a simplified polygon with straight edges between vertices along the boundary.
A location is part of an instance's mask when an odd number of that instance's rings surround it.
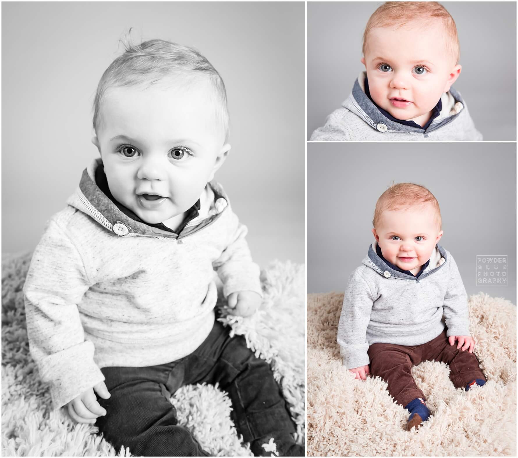
<svg viewBox="0 0 518 458">
<path fill-rule="evenodd" d="M 426 130 L 389 120 L 365 94 L 366 72 L 360 73 L 351 95 L 342 107 L 327 116 L 324 126 L 310 140 L 317 141 L 455 141 L 482 140 L 461 94 L 454 90 L 442 94 L 439 116 Z"/>
</svg>

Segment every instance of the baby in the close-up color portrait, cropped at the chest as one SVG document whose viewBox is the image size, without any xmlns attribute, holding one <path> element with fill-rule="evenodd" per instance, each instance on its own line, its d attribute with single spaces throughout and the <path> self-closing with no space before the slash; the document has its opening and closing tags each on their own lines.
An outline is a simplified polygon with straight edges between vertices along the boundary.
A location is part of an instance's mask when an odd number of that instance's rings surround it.
<svg viewBox="0 0 518 458">
<path fill-rule="evenodd" d="M 366 71 L 311 140 L 482 140 L 451 86 L 461 74 L 452 17 L 437 2 L 386 2 L 370 17 Z"/>
</svg>

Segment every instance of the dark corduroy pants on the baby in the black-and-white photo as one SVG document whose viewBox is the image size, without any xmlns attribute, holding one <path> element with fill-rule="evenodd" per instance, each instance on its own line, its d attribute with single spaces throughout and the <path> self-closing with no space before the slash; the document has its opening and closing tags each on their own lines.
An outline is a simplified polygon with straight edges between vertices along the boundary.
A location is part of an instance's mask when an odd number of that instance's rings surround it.
<svg viewBox="0 0 518 458">
<path fill-rule="evenodd" d="M 232 419 L 254 455 L 274 438 L 279 455 L 304 456 L 282 393 L 269 364 L 254 356 L 242 336 L 230 337 L 215 321 L 209 336 L 193 353 L 168 364 L 102 369 L 111 397 L 98 398 L 106 409 L 99 432 L 116 450 L 129 447 L 139 456 L 209 456 L 183 426 L 169 397 L 183 385 L 219 383 L 232 401 Z"/>
</svg>

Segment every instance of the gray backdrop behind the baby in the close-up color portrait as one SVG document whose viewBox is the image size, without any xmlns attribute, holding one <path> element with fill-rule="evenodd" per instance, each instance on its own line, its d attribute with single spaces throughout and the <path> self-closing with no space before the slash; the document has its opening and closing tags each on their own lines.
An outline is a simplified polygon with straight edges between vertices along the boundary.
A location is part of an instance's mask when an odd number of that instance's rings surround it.
<svg viewBox="0 0 518 458">
<path fill-rule="evenodd" d="M 516 140 L 516 2 L 441 2 L 457 26 L 466 100 L 485 140 Z M 307 138 L 365 70 L 362 37 L 383 2 L 308 2 Z M 403 43 L 404 44 L 404 43 Z"/>
</svg>

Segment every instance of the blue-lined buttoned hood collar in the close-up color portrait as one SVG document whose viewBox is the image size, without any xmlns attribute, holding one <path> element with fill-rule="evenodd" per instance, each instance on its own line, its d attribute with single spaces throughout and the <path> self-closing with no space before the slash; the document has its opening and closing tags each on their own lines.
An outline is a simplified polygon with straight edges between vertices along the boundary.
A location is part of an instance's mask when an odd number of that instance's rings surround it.
<svg viewBox="0 0 518 458">
<path fill-rule="evenodd" d="M 418 127 L 405 126 L 403 124 L 391 121 L 384 116 L 372 103 L 367 94 L 365 94 L 365 78 L 367 72 L 362 71 L 354 82 L 351 95 L 343 102 L 342 107 L 355 113 L 367 122 L 372 128 L 379 131 L 406 131 L 406 132 L 423 132 L 424 129 Z M 461 94 L 450 87 L 450 91 L 441 96 L 442 109 L 439 116 L 431 122 L 426 132 L 439 129 L 451 123 L 461 111 L 464 109 L 464 101 Z"/>
</svg>

